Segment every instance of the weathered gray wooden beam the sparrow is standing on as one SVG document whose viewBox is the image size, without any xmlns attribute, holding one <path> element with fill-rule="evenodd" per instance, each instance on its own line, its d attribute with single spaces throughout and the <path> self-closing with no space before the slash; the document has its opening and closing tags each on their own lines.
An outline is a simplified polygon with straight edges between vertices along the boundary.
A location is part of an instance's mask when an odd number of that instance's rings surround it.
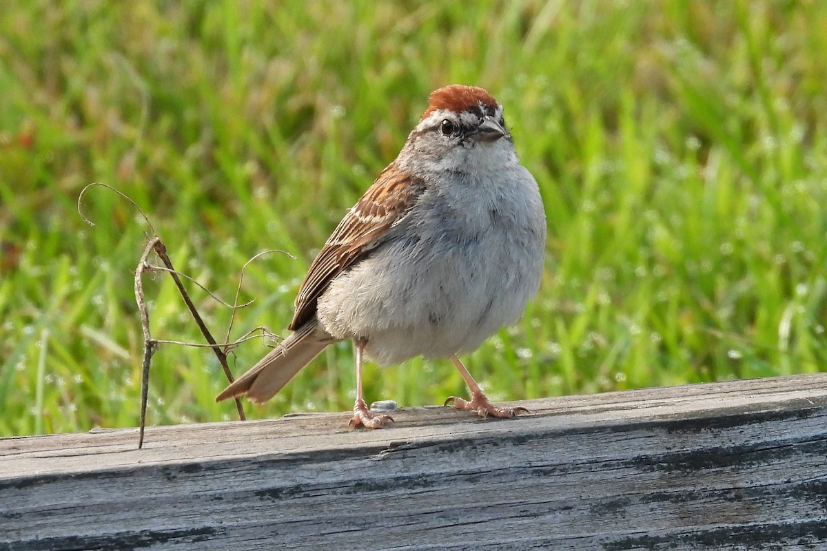
<svg viewBox="0 0 827 551">
<path fill-rule="evenodd" d="M 0 549 L 827 549 L 827 374 L 0 439 Z"/>
</svg>

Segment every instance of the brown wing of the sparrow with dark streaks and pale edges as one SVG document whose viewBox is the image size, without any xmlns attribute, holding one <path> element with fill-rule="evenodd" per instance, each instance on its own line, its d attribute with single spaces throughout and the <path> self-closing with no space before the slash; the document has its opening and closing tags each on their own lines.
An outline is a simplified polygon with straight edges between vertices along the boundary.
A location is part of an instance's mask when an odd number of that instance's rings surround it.
<svg viewBox="0 0 827 551">
<path fill-rule="evenodd" d="M 361 254 L 379 244 L 410 207 L 425 185 L 390 164 L 347 212 L 318 252 L 296 297 L 296 313 L 288 326 L 297 330 L 316 313 L 316 302 L 327 285 Z"/>
</svg>

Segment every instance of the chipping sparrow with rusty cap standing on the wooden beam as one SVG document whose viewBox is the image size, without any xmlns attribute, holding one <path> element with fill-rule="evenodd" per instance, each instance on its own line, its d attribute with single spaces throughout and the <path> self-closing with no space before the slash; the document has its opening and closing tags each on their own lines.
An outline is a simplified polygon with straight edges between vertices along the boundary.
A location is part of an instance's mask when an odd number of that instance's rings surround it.
<svg viewBox="0 0 827 551">
<path fill-rule="evenodd" d="M 440 88 L 399 156 L 313 260 L 295 300 L 294 333 L 216 400 L 269 400 L 328 344 L 350 339 L 351 427 L 392 422 L 362 398 L 364 357 L 450 357 L 471 401 L 446 405 L 513 417 L 525 410 L 493 406 L 457 353 L 519 319 L 540 285 L 545 241 L 538 186 L 519 163 L 503 108 L 482 88 Z"/>
</svg>

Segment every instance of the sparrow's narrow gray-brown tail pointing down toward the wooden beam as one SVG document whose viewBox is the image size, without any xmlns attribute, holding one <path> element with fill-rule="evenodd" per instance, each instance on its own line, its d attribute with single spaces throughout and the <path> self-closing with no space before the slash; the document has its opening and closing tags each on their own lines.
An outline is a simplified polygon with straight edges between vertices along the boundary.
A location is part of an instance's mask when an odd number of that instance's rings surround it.
<svg viewBox="0 0 827 551">
<path fill-rule="evenodd" d="M 225 388 L 215 401 L 241 394 L 259 403 L 270 400 L 332 342 L 334 339 L 318 327 L 318 321 L 308 321 Z"/>
</svg>

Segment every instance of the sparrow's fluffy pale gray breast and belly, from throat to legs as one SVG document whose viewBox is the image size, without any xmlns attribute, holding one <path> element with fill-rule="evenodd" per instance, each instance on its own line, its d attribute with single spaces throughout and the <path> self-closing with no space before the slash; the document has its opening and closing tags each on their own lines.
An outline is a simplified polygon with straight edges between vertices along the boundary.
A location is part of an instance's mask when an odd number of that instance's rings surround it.
<svg viewBox="0 0 827 551">
<path fill-rule="evenodd" d="M 533 191 L 528 201 L 525 189 L 487 184 L 424 192 L 332 282 L 319 300 L 323 326 L 338 338 L 366 336 L 370 356 L 398 363 L 476 349 L 517 321 L 542 272 L 542 204 L 533 179 L 517 183 Z"/>
</svg>

